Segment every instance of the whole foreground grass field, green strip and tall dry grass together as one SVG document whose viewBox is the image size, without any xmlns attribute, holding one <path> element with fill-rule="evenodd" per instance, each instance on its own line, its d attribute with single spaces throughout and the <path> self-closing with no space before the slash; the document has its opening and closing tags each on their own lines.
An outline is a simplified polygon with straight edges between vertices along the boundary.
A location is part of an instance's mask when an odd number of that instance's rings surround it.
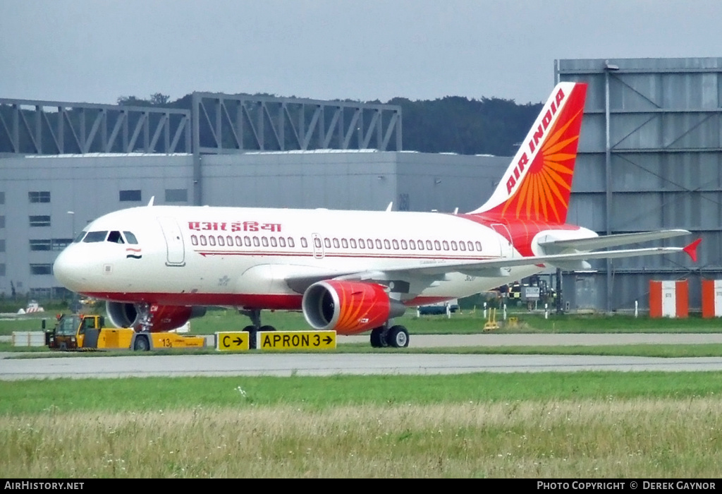
<svg viewBox="0 0 722 494">
<path fill-rule="evenodd" d="M 722 373 L 0 383 L 0 476 L 715 478 Z"/>
</svg>

